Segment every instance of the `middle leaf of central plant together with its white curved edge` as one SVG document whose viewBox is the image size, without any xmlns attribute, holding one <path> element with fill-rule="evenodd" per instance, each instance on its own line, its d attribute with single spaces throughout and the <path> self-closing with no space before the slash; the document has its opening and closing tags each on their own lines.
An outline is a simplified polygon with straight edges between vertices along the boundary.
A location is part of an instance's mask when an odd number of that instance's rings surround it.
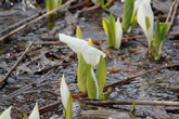
<svg viewBox="0 0 179 119">
<path fill-rule="evenodd" d="M 99 84 L 91 65 L 87 66 L 87 91 L 88 97 L 91 100 L 99 98 Z"/>
</svg>

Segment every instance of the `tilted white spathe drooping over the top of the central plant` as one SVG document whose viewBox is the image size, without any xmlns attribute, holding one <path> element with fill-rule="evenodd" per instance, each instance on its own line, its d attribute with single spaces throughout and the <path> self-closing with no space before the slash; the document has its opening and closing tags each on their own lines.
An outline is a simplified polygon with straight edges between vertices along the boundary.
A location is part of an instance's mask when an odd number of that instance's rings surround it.
<svg viewBox="0 0 179 119">
<path fill-rule="evenodd" d="M 85 40 L 69 37 L 63 34 L 59 34 L 59 37 L 60 37 L 60 40 L 62 42 L 67 43 L 67 45 L 74 52 L 76 52 L 78 56 L 81 53 L 86 63 L 92 65 L 93 67 L 99 64 L 101 55 L 105 57 L 105 54 L 102 51 L 88 45 L 88 42 Z"/>
</svg>

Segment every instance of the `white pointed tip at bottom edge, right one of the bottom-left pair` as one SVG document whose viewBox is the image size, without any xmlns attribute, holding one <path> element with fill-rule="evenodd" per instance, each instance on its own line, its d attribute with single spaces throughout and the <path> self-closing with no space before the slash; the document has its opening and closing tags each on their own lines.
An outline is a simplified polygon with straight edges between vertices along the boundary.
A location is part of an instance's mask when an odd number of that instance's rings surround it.
<svg viewBox="0 0 179 119">
<path fill-rule="evenodd" d="M 31 114 L 29 115 L 28 119 L 40 119 L 40 115 L 39 115 L 39 109 L 38 109 L 38 103 L 36 102 L 36 105 L 31 111 Z"/>
</svg>

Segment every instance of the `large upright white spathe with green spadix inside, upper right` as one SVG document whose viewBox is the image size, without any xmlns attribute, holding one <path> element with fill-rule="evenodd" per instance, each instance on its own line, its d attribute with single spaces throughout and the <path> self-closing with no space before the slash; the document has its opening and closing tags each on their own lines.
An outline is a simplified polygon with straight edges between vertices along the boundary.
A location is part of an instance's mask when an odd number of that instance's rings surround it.
<svg viewBox="0 0 179 119">
<path fill-rule="evenodd" d="M 154 21 L 154 15 L 153 15 L 153 11 L 152 11 L 150 1 L 151 0 L 143 0 L 141 2 L 141 4 L 139 5 L 139 10 L 138 10 L 138 14 L 137 14 L 138 24 L 142 27 L 142 29 L 148 38 L 149 47 L 151 47 L 151 42 L 153 40 L 153 21 Z M 146 30 L 145 16 L 149 17 L 149 21 L 151 24 L 149 30 Z"/>
</svg>

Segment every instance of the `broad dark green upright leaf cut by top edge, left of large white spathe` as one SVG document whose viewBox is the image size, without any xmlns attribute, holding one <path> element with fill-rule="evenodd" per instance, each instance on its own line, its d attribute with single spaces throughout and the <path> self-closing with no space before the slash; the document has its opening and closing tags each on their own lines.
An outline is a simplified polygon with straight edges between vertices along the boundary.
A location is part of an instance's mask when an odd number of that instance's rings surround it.
<svg viewBox="0 0 179 119">
<path fill-rule="evenodd" d="M 127 31 L 130 27 L 130 22 L 133 13 L 135 2 L 133 0 L 125 0 L 124 16 L 123 16 L 123 28 Z"/>
</svg>

